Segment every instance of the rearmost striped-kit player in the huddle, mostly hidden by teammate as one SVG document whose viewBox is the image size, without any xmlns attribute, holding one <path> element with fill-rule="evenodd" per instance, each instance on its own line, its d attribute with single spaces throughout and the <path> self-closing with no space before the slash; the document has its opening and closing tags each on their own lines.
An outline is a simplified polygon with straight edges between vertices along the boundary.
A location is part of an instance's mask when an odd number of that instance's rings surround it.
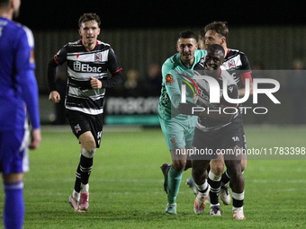
<svg viewBox="0 0 306 229">
<path fill-rule="evenodd" d="M 248 63 L 247 56 L 237 50 L 231 49 L 227 47 L 227 40 L 229 37 L 229 28 L 227 26 L 227 22 L 211 22 L 207 24 L 202 31 L 199 32 L 199 48 L 206 49 L 212 44 L 219 44 L 225 50 L 223 67 L 229 72 L 229 74 L 234 78 L 238 85 L 238 94 L 239 97 L 243 97 L 245 95 L 246 88 L 246 79 L 249 80 L 249 93 L 253 93 L 253 83 L 251 76 L 251 68 Z M 241 106 L 242 104 L 239 104 Z M 243 143 L 244 148 L 247 148 L 245 132 L 243 128 L 243 120 L 242 113 L 240 112 L 240 128 L 242 132 L 242 139 L 240 141 Z M 220 199 L 225 205 L 229 205 L 230 203 L 230 194 L 227 183 L 229 182 L 229 172 L 223 172 L 224 161 L 220 160 L 211 160 L 211 177 L 214 177 L 216 184 L 220 185 Z M 247 155 L 243 154 L 241 160 L 241 170 L 245 171 L 247 167 Z M 222 173 L 223 172 L 223 173 Z M 210 180 L 209 180 L 210 181 Z M 193 180 L 192 178 L 186 181 L 188 187 L 193 188 Z M 217 188 L 216 188 L 217 189 Z M 193 189 L 194 190 L 194 189 Z M 194 191 L 193 191 L 194 192 Z M 218 192 L 210 192 L 210 198 L 215 199 L 218 198 Z"/>
</svg>

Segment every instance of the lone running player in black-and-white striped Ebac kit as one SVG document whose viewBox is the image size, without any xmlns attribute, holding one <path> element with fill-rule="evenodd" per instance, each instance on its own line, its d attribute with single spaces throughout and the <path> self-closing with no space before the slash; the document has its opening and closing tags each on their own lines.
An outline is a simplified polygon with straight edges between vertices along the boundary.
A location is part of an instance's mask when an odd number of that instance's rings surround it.
<svg viewBox="0 0 306 229">
<path fill-rule="evenodd" d="M 69 197 L 69 203 L 75 211 L 88 209 L 88 179 L 95 150 L 100 147 L 105 90 L 122 82 L 122 68 L 111 46 L 97 40 L 100 24 L 97 14 L 84 13 L 78 21 L 78 32 L 82 39 L 68 42 L 51 58 L 48 65 L 49 101 L 56 103 L 63 99 L 56 89 L 56 67 L 67 62 L 66 114 L 81 144 L 75 189 Z M 109 79 L 108 71 L 112 74 Z"/>
</svg>

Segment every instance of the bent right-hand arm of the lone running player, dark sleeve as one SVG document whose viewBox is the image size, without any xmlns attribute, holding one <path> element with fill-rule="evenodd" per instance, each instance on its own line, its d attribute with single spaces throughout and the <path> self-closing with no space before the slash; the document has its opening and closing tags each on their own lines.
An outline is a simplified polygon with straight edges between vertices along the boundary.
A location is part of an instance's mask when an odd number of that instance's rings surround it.
<svg viewBox="0 0 306 229">
<path fill-rule="evenodd" d="M 112 77 L 109 79 L 102 79 L 101 87 L 103 88 L 113 88 L 114 86 L 121 84 L 123 81 L 121 70 L 122 67 L 117 59 L 116 55 L 114 54 L 112 48 L 109 49 L 108 52 L 108 62 L 107 62 L 107 69 L 112 74 Z M 99 80 L 91 77 L 91 85 L 93 88 L 101 88 Z"/>
</svg>

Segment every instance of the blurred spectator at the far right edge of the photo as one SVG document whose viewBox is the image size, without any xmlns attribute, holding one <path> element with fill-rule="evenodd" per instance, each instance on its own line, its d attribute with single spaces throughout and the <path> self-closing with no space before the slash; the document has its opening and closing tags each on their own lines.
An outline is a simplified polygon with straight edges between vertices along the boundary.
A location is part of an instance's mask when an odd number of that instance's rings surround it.
<svg viewBox="0 0 306 229">
<path fill-rule="evenodd" d="M 306 75 L 304 64 L 301 59 L 293 60 L 293 71 L 288 78 L 289 94 L 291 94 L 293 124 L 305 124 L 306 106 Z"/>
</svg>

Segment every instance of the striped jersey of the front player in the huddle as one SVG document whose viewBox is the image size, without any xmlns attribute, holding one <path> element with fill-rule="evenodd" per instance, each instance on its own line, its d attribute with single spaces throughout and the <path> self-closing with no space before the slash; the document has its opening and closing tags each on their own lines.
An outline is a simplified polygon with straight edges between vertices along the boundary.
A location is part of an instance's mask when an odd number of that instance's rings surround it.
<svg viewBox="0 0 306 229">
<path fill-rule="evenodd" d="M 194 66 L 194 73 L 196 75 L 203 75 L 202 73 L 202 63 L 199 62 L 196 66 Z M 198 86 L 199 91 L 197 92 L 197 105 L 199 107 L 203 107 L 205 109 L 209 110 L 215 110 L 211 112 L 222 112 L 222 110 L 226 107 L 231 108 L 237 108 L 237 103 L 230 103 L 229 101 L 226 101 L 223 96 L 223 92 L 227 90 L 228 96 L 231 99 L 238 99 L 238 86 L 235 82 L 235 80 L 229 75 L 229 73 L 226 70 L 221 70 L 219 75 L 215 79 L 220 87 L 220 103 L 211 103 L 210 102 L 210 84 L 204 80 L 204 79 L 198 79 L 195 81 L 195 83 Z M 226 81 L 227 88 L 223 88 L 223 81 Z M 220 111 L 216 111 L 220 110 Z M 239 116 L 238 116 L 238 110 L 234 114 L 233 118 L 228 123 L 218 123 L 215 121 L 211 121 L 210 119 L 206 118 L 198 118 L 198 122 L 196 124 L 196 128 L 201 129 L 204 132 L 212 131 L 212 130 L 218 130 L 220 128 L 224 128 L 228 126 L 231 123 L 238 123 Z"/>
</svg>

